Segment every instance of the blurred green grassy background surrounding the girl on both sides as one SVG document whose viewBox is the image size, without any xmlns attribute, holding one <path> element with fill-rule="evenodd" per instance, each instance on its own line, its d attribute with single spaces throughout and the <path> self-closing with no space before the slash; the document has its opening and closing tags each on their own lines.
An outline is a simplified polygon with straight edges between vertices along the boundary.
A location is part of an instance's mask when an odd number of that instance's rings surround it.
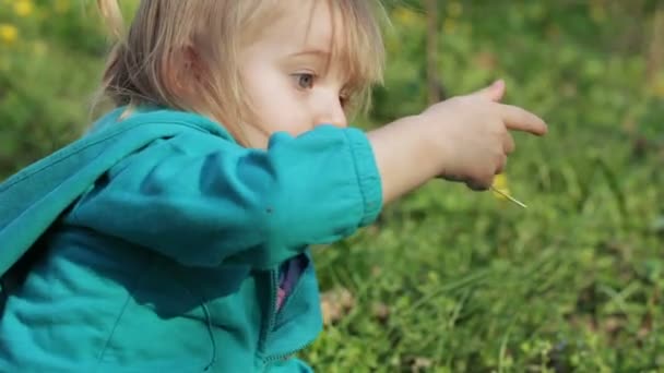
<svg viewBox="0 0 664 373">
<path fill-rule="evenodd" d="M 135 0 L 121 0 L 127 14 Z M 443 181 L 317 250 L 321 372 L 664 371 L 664 1 L 389 1 L 380 125 L 501 77 L 549 124 L 496 186 Z M 73 141 L 92 0 L 0 0 L 0 181 Z M 414 165 L 413 167 L 416 167 Z"/>
</svg>

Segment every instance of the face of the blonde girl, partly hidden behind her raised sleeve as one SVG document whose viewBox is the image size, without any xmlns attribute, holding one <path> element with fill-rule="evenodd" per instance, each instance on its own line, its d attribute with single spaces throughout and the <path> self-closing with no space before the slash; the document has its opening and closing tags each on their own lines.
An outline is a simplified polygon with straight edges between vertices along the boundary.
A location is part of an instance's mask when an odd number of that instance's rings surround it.
<svg viewBox="0 0 664 373">
<path fill-rule="evenodd" d="M 341 62 L 330 58 L 334 33 L 342 27 L 328 1 L 283 0 L 280 7 L 284 12 L 239 53 L 244 89 L 254 111 L 244 127 L 253 147 L 265 147 L 277 131 L 298 135 L 318 124 L 347 125 L 347 76 Z"/>
</svg>

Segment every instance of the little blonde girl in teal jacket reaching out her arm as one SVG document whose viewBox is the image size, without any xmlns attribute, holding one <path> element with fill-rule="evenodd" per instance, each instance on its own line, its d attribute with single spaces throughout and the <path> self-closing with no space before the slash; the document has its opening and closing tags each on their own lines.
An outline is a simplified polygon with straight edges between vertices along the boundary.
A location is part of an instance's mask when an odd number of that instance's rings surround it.
<svg viewBox="0 0 664 373">
<path fill-rule="evenodd" d="M 126 36 L 98 3 L 116 109 L 0 185 L 2 372 L 310 371 L 308 245 L 431 178 L 484 190 L 509 130 L 546 132 L 501 82 L 349 128 L 381 80 L 372 1 L 143 0 Z"/>
</svg>

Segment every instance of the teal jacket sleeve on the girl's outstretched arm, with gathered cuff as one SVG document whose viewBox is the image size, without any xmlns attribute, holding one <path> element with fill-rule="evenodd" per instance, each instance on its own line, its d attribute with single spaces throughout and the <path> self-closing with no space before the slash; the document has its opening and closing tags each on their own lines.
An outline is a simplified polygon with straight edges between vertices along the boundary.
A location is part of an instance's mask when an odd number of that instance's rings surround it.
<svg viewBox="0 0 664 373">
<path fill-rule="evenodd" d="M 186 265 L 269 268 L 352 234 L 382 207 L 374 154 L 357 129 L 277 133 L 268 149 L 211 137 L 165 139 L 126 158 L 70 222 Z"/>
</svg>

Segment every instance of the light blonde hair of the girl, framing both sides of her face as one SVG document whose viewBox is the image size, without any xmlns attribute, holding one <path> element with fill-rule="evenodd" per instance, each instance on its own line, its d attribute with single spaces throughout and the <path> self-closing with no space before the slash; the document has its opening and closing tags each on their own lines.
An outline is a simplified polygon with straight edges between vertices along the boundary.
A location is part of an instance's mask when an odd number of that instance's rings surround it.
<svg viewBox="0 0 664 373">
<path fill-rule="evenodd" d="M 378 0 L 328 1 L 343 26 L 343 39 L 334 40 L 336 56 L 331 58 L 341 59 L 349 72 L 354 111 L 366 110 L 371 85 L 382 82 L 384 10 Z M 103 95 L 116 106 L 151 104 L 206 115 L 244 137 L 240 123 L 251 108 L 240 82 L 239 46 L 269 22 L 266 15 L 277 3 L 141 0 L 126 33 L 118 0 L 97 0 L 117 39 L 104 72 Z M 192 61 L 201 65 L 191 69 Z M 205 76 L 194 75 L 197 71 Z M 183 89 L 182 82 L 197 86 Z"/>
</svg>

